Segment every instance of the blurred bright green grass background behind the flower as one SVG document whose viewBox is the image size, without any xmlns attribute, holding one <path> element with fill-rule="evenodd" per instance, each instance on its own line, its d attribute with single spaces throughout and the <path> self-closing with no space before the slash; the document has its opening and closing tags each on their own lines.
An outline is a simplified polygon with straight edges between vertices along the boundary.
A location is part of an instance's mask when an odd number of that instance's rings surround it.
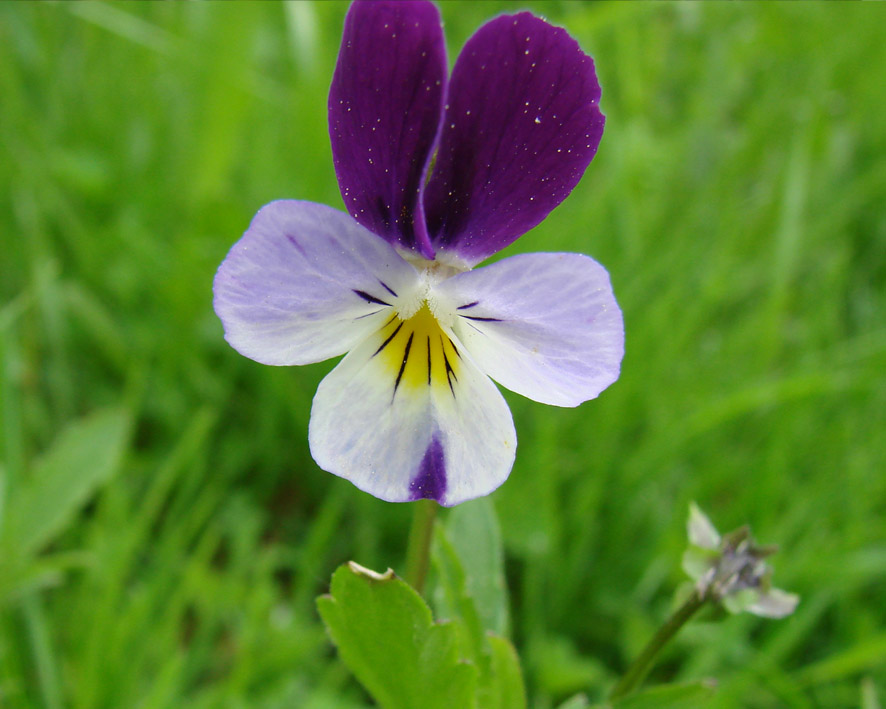
<svg viewBox="0 0 886 709">
<path fill-rule="evenodd" d="M 690 500 L 780 544 L 802 601 L 701 618 L 651 679 L 716 677 L 722 707 L 877 706 L 883 6 L 520 6 L 594 56 L 608 120 L 582 183 L 505 254 L 593 255 L 627 328 L 599 400 L 507 395 L 519 450 L 492 498 L 533 706 L 601 696 L 667 615 Z M 442 3 L 450 61 L 515 7 Z M 312 462 L 331 364 L 251 362 L 211 307 L 262 204 L 342 206 L 325 104 L 345 11 L 0 6 L 6 499 L 70 422 L 111 406 L 132 425 L 40 558 L 78 553 L 0 599 L 3 707 L 368 704 L 313 598 L 347 559 L 402 571 L 410 510 Z"/>
</svg>

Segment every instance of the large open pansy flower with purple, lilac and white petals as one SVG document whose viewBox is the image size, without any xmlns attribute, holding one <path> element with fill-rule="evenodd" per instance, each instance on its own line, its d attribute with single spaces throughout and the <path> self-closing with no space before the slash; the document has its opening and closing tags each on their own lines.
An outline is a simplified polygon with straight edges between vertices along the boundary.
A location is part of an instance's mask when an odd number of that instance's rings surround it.
<svg viewBox="0 0 886 709">
<path fill-rule="evenodd" d="M 491 379 L 577 406 L 618 378 L 622 316 L 598 263 L 543 253 L 471 270 L 578 183 L 603 132 L 599 98 L 591 58 L 529 13 L 483 25 L 447 81 L 434 5 L 351 6 L 329 93 L 350 215 L 266 205 L 214 284 L 241 354 L 297 365 L 347 353 L 314 397 L 321 468 L 383 500 L 455 505 L 513 465 Z"/>
</svg>

